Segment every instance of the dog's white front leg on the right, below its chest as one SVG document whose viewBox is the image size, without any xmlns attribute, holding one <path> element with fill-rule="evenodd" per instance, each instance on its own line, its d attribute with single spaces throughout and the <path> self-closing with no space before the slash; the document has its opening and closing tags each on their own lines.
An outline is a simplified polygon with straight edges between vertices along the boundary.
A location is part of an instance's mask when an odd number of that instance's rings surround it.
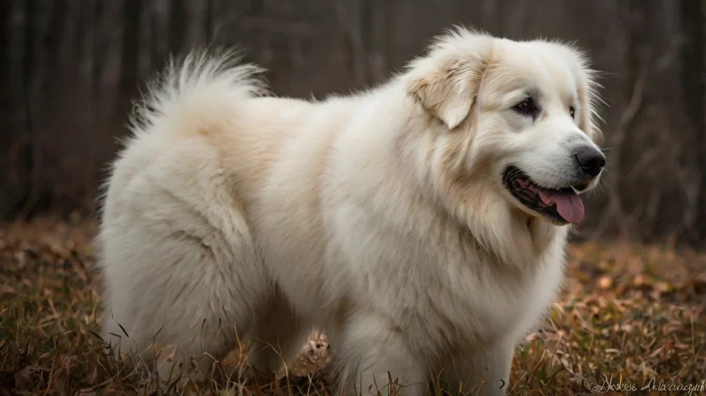
<svg viewBox="0 0 706 396">
<path fill-rule="evenodd" d="M 506 395 L 514 350 L 512 342 L 503 340 L 449 361 L 445 378 L 451 395 Z"/>
</svg>

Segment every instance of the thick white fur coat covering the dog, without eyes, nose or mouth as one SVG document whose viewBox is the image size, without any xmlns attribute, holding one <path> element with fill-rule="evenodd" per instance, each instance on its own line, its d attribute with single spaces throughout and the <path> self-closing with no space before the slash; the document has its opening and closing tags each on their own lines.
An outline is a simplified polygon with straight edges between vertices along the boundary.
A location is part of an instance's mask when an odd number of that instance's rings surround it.
<svg viewBox="0 0 706 396">
<path fill-rule="evenodd" d="M 274 370 L 318 326 L 343 390 L 388 392 L 390 371 L 421 395 L 441 372 L 504 394 L 568 226 L 501 173 L 565 182 L 571 148 L 599 139 L 585 60 L 459 28 L 383 85 L 304 101 L 265 95 L 237 56 L 189 55 L 152 85 L 107 183 L 104 336 L 145 361 L 164 348 L 162 378 L 190 361 L 203 378 L 237 337 Z M 527 90 L 537 120 L 510 109 Z"/>
</svg>

